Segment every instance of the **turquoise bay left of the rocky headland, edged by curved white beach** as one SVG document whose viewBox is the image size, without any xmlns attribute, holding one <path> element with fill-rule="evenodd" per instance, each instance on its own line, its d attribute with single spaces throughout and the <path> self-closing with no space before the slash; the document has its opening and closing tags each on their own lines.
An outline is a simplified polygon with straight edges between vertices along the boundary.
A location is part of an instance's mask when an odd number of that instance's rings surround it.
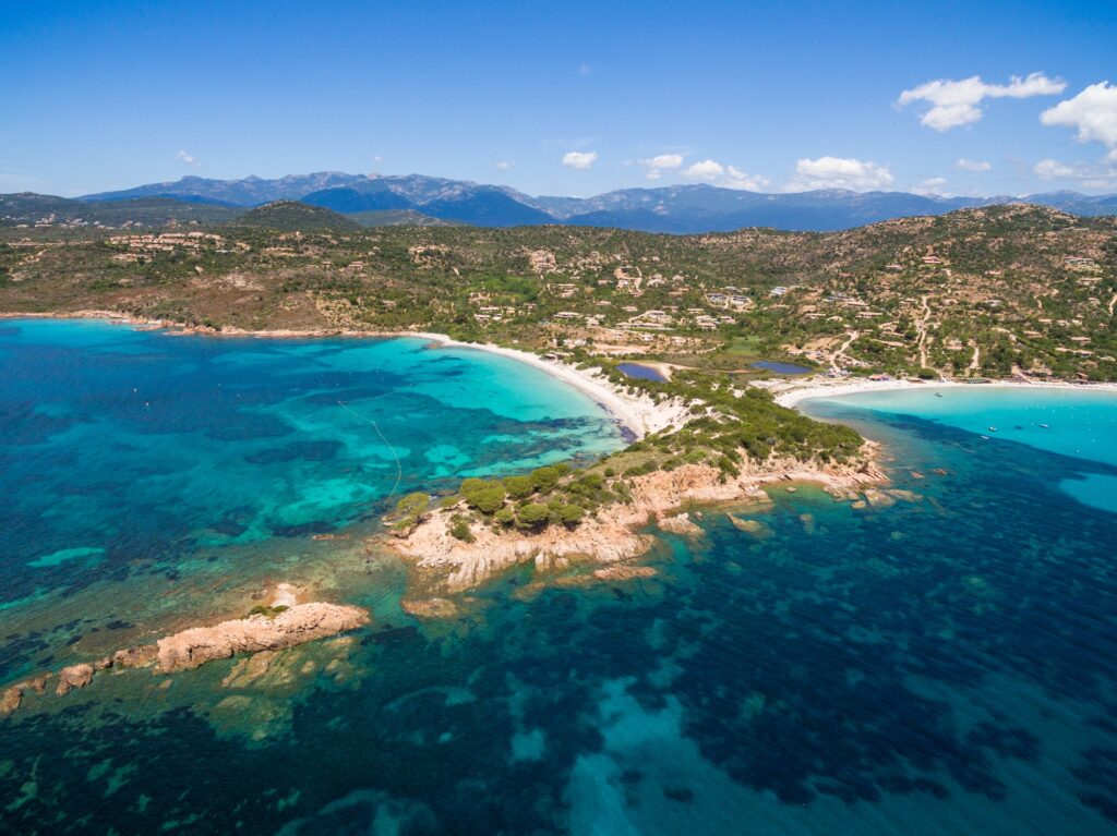
<svg viewBox="0 0 1117 836">
<path fill-rule="evenodd" d="M 408 491 L 622 443 L 596 404 L 550 376 L 422 339 L 216 339 L 7 320 L 0 606 L 50 631 L 77 603 L 51 616 L 44 596 L 84 595 L 86 611 L 149 596 L 126 619 L 146 622 L 173 612 L 174 582 L 259 578 L 271 568 L 261 563 L 297 558 L 312 535 L 375 519 Z M 36 606 L 20 609 L 25 599 Z M 0 647 L 0 676 L 58 655 L 50 640 L 34 644 L 38 653 Z"/>
</svg>

